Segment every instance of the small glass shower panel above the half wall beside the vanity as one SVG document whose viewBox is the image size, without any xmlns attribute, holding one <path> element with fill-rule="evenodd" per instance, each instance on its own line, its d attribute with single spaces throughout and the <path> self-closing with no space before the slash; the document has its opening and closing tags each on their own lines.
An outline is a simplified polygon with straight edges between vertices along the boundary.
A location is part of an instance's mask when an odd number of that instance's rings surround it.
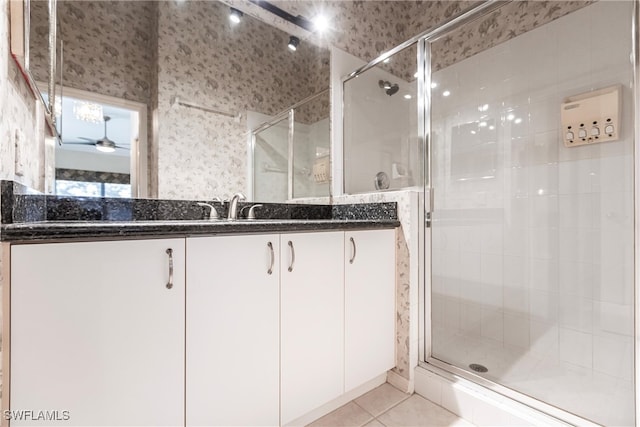
<svg viewBox="0 0 640 427">
<path fill-rule="evenodd" d="M 344 189 L 347 194 L 419 186 L 417 43 L 344 82 Z"/>
</svg>

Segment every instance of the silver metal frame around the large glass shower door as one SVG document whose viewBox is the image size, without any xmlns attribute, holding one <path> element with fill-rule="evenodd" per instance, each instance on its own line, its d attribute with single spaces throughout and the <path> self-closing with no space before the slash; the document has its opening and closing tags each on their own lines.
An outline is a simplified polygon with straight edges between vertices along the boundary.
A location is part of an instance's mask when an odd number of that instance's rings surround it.
<svg viewBox="0 0 640 427">
<path fill-rule="evenodd" d="M 449 32 L 454 31 L 471 21 L 474 21 L 478 18 L 481 18 L 496 9 L 510 3 L 513 0 L 508 1 L 497 1 L 497 0 L 488 0 L 475 8 L 470 9 L 468 12 L 453 17 L 449 21 L 446 21 L 442 25 L 438 26 L 433 30 L 429 30 L 426 33 L 423 33 L 417 37 L 414 37 L 410 41 L 403 43 L 401 46 L 404 46 L 418 41 L 418 124 L 420 129 L 419 135 L 422 137 L 422 141 L 425 147 L 425 161 L 424 161 L 424 210 L 422 210 L 422 214 L 424 215 L 424 227 L 420 227 L 420 242 L 422 254 L 420 254 L 419 259 L 423 264 L 420 265 L 420 283 L 421 287 L 419 289 L 419 340 L 418 340 L 418 366 L 416 369 L 425 369 L 427 371 L 433 372 L 437 375 L 443 376 L 450 380 L 455 381 L 463 381 L 467 382 L 470 386 L 476 385 L 482 388 L 488 389 L 492 392 L 495 392 L 499 395 L 505 396 L 513 401 L 526 405 L 530 408 L 533 408 L 536 411 L 541 412 L 542 414 L 550 415 L 556 418 L 559 421 L 569 422 L 575 425 L 593 425 L 595 424 L 585 418 L 567 412 L 566 410 L 553 406 L 551 404 L 547 404 L 538 399 L 535 399 L 531 396 L 528 396 L 524 393 L 518 392 L 514 389 L 503 386 L 499 383 L 494 383 L 489 381 L 479 375 L 476 375 L 470 371 L 458 368 L 449 363 L 443 362 L 441 360 L 435 359 L 432 357 L 432 336 L 431 336 L 431 319 L 430 316 L 427 316 L 427 309 L 429 309 L 429 314 L 431 313 L 431 239 L 427 234 L 427 230 L 430 230 L 430 218 L 433 212 L 433 191 L 431 188 L 431 43 L 435 42 L 439 38 L 447 35 Z M 633 109 L 634 109 L 634 117 L 637 116 L 638 111 L 640 111 L 640 76 L 638 74 L 640 70 L 640 55 L 639 55 L 639 46 L 640 46 L 640 0 L 631 0 L 633 1 L 633 16 L 632 16 L 632 61 L 631 66 L 633 68 Z M 395 52 L 401 46 L 393 49 Z M 390 52 L 392 52 L 390 51 Z M 390 55 L 383 54 L 380 58 L 385 59 Z M 378 58 L 378 59 L 380 59 Z M 370 64 L 363 68 L 370 68 Z M 356 73 L 359 74 L 363 69 L 358 70 Z M 352 76 L 350 76 L 352 77 Z M 640 265 L 640 229 L 638 224 L 640 224 L 640 197 L 638 197 L 638 190 L 640 189 L 640 119 L 636 117 L 636 121 L 634 123 L 634 336 L 635 336 L 635 344 L 634 344 L 634 401 L 635 401 L 635 420 L 638 422 L 640 420 L 640 405 L 638 405 L 638 385 L 640 384 L 640 272 L 638 270 L 638 266 Z M 427 206 L 428 204 L 428 206 Z M 429 232 L 430 233 L 430 232 Z M 426 259 L 426 255 L 429 254 L 429 259 Z"/>
</svg>

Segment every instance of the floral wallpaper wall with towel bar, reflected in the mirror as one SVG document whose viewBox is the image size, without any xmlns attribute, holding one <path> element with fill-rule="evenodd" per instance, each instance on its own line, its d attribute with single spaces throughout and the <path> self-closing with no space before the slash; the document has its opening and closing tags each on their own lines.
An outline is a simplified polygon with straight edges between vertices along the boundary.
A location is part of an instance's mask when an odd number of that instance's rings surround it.
<svg viewBox="0 0 640 427">
<path fill-rule="evenodd" d="M 245 112 L 274 115 L 328 87 L 328 51 L 291 52 L 288 34 L 246 15 L 231 27 L 218 2 L 161 2 L 158 30 L 158 195 L 246 191 Z M 174 97 L 236 117 L 172 106 Z"/>
</svg>

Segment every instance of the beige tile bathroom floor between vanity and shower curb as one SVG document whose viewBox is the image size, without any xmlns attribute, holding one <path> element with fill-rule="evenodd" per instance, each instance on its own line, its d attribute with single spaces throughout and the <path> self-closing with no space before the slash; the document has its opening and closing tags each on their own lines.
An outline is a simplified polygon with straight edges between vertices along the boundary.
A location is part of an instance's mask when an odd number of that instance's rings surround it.
<svg viewBox="0 0 640 427">
<path fill-rule="evenodd" d="M 405 394 L 385 383 L 314 421 L 309 427 L 472 425 L 417 394 Z"/>
</svg>

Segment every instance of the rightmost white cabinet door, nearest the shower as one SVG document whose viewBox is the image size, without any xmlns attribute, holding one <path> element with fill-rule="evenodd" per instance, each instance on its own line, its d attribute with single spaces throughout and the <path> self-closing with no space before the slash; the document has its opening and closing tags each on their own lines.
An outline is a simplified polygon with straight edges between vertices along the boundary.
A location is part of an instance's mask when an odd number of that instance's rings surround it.
<svg viewBox="0 0 640 427">
<path fill-rule="evenodd" d="M 345 234 L 345 390 L 395 366 L 395 230 Z"/>
</svg>

